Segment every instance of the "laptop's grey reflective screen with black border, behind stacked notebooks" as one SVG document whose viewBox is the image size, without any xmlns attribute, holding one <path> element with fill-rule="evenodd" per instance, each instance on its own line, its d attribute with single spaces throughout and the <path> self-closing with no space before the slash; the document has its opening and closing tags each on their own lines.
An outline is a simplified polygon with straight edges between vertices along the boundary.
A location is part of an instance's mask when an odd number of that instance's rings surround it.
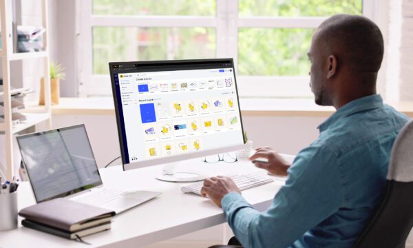
<svg viewBox="0 0 413 248">
<path fill-rule="evenodd" d="M 85 126 L 17 137 L 36 202 L 101 185 Z"/>
</svg>

